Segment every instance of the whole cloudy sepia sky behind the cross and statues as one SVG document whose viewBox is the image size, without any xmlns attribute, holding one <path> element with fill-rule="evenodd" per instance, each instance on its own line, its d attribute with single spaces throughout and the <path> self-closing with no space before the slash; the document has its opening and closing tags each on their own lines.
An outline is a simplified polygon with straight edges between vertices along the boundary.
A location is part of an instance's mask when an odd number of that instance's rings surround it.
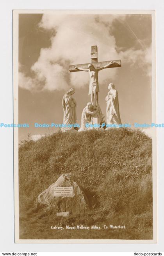
<svg viewBox="0 0 164 256">
<path fill-rule="evenodd" d="M 87 102 L 89 75 L 69 72 L 69 65 L 91 62 L 91 46 L 98 61 L 121 59 L 121 67 L 99 72 L 99 104 L 106 117 L 107 86 L 118 90 L 121 121 L 151 123 L 151 15 L 20 14 L 19 15 L 19 139 L 27 134 L 56 132 L 34 123 L 63 120 L 62 97 L 75 88 L 77 123 Z"/>
</svg>

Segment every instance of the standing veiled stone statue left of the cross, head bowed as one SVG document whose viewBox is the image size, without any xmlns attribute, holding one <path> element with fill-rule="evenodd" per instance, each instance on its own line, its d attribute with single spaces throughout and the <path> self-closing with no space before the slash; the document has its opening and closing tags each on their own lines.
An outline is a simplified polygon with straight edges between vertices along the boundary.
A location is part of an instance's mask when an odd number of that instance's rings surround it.
<svg viewBox="0 0 164 256">
<path fill-rule="evenodd" d="M 73 124 L 76 123 L 76 102 L 72 95 L 75 93 L 75 89 L 68 90 L 62 98 L 62 108 L 64 112 L 63 124 L 66 127 L 61 128 L 61 132 L 75 131 Z"/>
</svg>

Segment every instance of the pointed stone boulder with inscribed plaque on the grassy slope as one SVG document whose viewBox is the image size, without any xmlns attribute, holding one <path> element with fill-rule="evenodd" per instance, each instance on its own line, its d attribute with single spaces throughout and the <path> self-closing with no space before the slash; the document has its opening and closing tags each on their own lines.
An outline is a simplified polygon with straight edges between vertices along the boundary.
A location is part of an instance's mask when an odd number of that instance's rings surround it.
<svg viewBox="0 0 164 256">
<path fill-rule="evenodd" d="M 66 191 L 70 190 L 68 194 L 71 194 L 61 196 L 59 187 Z M 55 183 L 39 194 L 37 202 L 54 207 L 56 212 L 70 212 L 70 214 L 85 213 L 89 209 L 89 202 L 84 191 L 66 174 L 62 174 Z"/>
</svg>

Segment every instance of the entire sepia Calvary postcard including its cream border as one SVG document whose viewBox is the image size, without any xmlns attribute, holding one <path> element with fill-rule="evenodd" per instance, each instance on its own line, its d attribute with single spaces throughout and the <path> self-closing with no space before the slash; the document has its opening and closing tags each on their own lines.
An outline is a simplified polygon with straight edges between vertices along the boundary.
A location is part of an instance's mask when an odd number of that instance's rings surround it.
<svg viewBox="0 0 164 256">
<path fill-rule="evenodd" d="M 14 10 L 13 77 L 15 242 L 157 243 L 155 11 Z"/>
</svg>

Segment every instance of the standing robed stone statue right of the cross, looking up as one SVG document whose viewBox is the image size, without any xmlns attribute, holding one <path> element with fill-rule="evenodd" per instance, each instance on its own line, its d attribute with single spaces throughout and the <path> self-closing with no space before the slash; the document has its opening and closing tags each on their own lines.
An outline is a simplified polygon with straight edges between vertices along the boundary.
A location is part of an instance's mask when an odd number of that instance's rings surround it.
<svg viewBox="0 0 164 256">
<path fill-rule="evenodd" d="M 107 124 L 121 124 L 119 115 L 118 92 L 115 89 L 114 84 L 109 84 L 108 89 L 109 92 L 105 98 L 105 101 L 107 102 Z"/>
</svg>

